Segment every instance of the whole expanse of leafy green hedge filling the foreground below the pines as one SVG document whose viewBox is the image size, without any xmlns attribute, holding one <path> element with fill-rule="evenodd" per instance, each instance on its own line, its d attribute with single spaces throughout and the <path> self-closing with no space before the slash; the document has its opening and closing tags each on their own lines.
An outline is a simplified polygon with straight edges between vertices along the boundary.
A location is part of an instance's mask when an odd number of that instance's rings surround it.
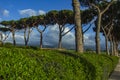
<svg viewBox="0 0 120 80">
<path fill-rule="evenodd" d="M 0 48 L 0 79 L 101 80 L 109 75 L 116 63 L 116 57 L 106 55 Z"/>
</svg>

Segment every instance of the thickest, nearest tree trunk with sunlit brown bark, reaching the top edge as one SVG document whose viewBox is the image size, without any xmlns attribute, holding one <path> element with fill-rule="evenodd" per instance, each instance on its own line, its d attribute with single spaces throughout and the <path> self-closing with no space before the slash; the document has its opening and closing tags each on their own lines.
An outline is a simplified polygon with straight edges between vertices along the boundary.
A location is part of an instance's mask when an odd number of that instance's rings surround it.
<svg viewBox="0 0 120 80">
<path fill-rule="evenodd" d="M 81 12 L 80 3 L 78 0 L 72 0 L 75 22 L 75 37 L 76 37 L 76 52 L 83 52 L 83 39 L 82 39 L 82 25 L 81 25 Z"/>
</svg>

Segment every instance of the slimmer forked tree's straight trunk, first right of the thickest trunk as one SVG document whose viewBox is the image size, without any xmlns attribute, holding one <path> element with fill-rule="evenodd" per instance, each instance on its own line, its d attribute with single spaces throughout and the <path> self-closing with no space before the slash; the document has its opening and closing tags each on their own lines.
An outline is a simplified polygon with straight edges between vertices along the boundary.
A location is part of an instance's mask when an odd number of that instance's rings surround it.
<svg viewBox="0 0 120 80">
<path fill-rule="evenodd" d="M 96 53 L 100 54 L 100 26 L 101 26 L 101 14 L 98 13 L 98 22 L 97 22 L 97 29 L 96 29 L 96 35 L 95 35 L 95 41 L 96 41 Z"/>
</svg>

